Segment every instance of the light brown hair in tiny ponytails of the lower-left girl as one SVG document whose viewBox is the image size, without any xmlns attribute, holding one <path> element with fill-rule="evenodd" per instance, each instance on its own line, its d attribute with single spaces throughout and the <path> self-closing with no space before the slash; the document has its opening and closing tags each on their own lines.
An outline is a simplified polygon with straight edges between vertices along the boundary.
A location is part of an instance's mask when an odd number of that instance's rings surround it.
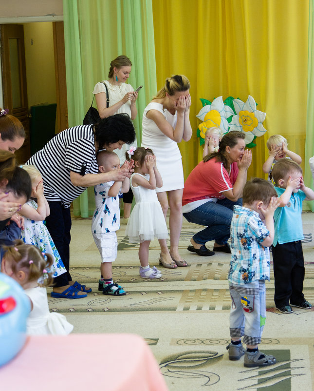
<svg viewBox="0 0 314 391">
<path fill-rule="evenodd" d="M 53 283 L 52 273 L 47 271 L 54 261 L 51 254 L 42 253 L 36 246 L 25 244 L 22 240 L 16 240 L 10 247 L 3 246 L 3 249 L 3 257 L 11 261 L 13 274 L 23 271 L 28 281 L 38 281 L 44 277 L 43 284 L 38 283 L 40 286 L 50 286 Z"/>
</svg>

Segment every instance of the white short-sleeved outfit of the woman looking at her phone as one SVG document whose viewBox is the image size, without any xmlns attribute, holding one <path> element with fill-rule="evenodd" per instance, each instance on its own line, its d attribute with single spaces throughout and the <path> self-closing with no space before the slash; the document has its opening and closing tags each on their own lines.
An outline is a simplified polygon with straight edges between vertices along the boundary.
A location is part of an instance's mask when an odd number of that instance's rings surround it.
<svg viewBox="0 0 314 391">
<path fill-rule="evenodd" d="M 99 94 L 104 92 L 106 94 L 106 87 L 103 83 L 106 83 L 109 95 L 109 107 L 119 102 L 128 92 L 134 91 L 134 88 L 127 83 L 121 83 L 121 85 L 113 85 L 109 80 L 102 80 L 95 85 L 93 94 Z M 131 117 L 131 102 L 128 101 L 122 105 L 114 114 L 127 113 Z M 132 145 L 137 146 L 136 138 Z M 126 152 L 129 150 L 129 144 L 124 144 L 121 149 L 115 149 L 115 152 L 120 159 L 120 164 L 123 164 L 126 160 Z"/>
</svg>

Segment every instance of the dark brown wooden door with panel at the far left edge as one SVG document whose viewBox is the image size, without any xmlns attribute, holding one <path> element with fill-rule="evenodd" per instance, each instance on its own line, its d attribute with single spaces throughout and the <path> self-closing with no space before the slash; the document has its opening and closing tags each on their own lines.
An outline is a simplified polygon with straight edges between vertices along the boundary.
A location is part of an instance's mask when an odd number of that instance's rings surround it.
<svg viewBox="0 0 314 391">
<path fill-rule="evenodd" d="M 1 24 L 1 61 L 3 108 L 17 117 L 26 133 L 23 146 L 16 151 L 19 163 L 30 157 L 29 117 L 25 69 L 24 30 L 22 24 Z"/>
</svg>

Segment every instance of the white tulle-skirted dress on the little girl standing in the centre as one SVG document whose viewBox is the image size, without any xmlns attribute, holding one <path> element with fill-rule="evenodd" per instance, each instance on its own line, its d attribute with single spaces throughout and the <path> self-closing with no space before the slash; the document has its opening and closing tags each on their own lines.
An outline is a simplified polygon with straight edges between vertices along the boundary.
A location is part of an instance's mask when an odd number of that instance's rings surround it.
<svg viewBox="0 0 314 391">
<path fill-rule="evenodd" d="M 149 176 L 134 173 L 130 177 L 130 186 L 135 197 L 135 206 L 129 217 L 126 235 L 129 243 L 138 243 L 145 240 L 167 239 L 168 230 L 166 220 L 158 201 L 155 190 L 143 186 L 134 187 L 132 178 L 140 175 L 149 180 Z"/>
</svg>

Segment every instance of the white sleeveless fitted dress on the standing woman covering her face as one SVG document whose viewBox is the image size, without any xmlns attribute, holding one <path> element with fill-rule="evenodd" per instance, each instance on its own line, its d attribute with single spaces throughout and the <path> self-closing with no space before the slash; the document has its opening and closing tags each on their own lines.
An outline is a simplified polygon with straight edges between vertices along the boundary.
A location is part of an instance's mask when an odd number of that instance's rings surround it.
<svg viewBox="0 0 314 391">
<path fill-rule="evenodd" d="M 163 187 L 157 188 L 156 192 L 183 189 L 183 166 L 178 143 L 164 135 L 156 123 L 146 117 L 149 110 L 157 110 L 162 113 L 173 128 L 177 123 L 177 113 L 173 116 L 166 109 L 163 109 L 161 103 L 156 102 L 150 102 L 143 113 L 142 147 L 152 149 L 157 159 L 158 171 L 163 179 Z"/>
</svg>

